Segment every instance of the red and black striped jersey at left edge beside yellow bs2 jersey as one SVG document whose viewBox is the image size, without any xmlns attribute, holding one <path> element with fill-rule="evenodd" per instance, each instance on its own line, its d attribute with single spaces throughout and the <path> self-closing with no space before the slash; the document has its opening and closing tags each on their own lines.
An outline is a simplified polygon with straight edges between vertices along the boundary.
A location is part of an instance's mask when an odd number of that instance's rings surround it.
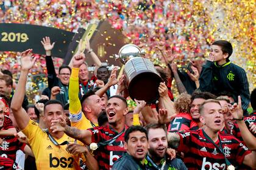
<svg viewBox="0 0 256 170">
<path fill-rule="evenodd" d="M 26 143 L 21 143 L 18 138 L 12 136 L 12 137 L 1 137 L 2 144 L 0 145 L 0 157 L 4 158 L 10 158 L 11 160 L 16 159 L 16 151 L 19 149 L 21 151 L 24 151 L 24 148 L 26 146 Z M 1 158 L 0 158 L 1 160 Z"/>
</svg>

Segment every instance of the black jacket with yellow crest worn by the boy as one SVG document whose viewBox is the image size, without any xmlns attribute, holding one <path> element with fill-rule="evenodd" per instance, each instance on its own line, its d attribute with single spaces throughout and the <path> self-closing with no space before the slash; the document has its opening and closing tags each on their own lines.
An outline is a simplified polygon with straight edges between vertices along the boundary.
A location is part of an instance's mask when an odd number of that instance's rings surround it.
<svg viewBox="0 0 256 170">
<path fill-rule="evenodd" d="M 244 111 L 249 106 L 250 92 L 246 72 L 230 61 L 222 66 L 207 61 L 202 67 L 199 83 L 202 92 L 211 92 L 215 95 L 220 92 L 230 92 L 236 103 L 238 95 L 241 96 Z"/>
</svg>

